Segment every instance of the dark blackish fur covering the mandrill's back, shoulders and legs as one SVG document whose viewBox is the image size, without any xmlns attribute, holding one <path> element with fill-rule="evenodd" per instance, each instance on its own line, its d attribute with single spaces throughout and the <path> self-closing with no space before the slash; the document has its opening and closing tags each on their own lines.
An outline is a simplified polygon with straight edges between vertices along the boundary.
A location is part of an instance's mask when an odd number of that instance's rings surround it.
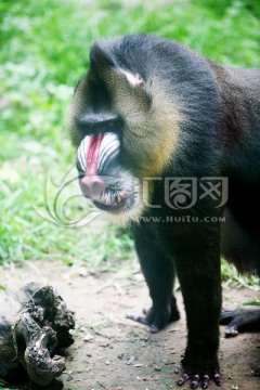
<svg viewBox="0 0 260 390">
<path fill-rule="evenodd" d="M 103 68 L 121 68 L 140 74 L 145 82 L 159 80 L 161 90 L 179 103 L 183 118 L 179 141 L 161 178 L 230 180 L 227 222 L 222 230 L 220 223 L 155 223 L 143 218 L 133 226 L 153 300 L 147 323 L 159 329 L 179 317 L 172 296 L 176 269 L 187 317 L 184 367 L 212 374 L 218 369 L 221 234 L 222 253 L 240 269 L 260 273 L 260 70 L 223 67 L 181 44 L 147 35 L 98 41 L 90 58 L 89 76 L 79 83 L 84 92 L 76 99 L 84 102 L 72 120 L 76 145 L 92 131 L 88 115 L 112 110 L 109 86 L 98 82 L 99 87 L 93 88 L 95 80 L 102 79 Z M 139 160 L 125 142 L 123 119 L 118 116 L 115 126 L 122 143 L 121 164 L 139 176 Z M 170 209 L 164 203 L 161 182 L 154 183 L 152 198 L 161 208 L 148 209 L 143 217 L 154 216 L 161 221 L 171 216 L 220 217 L 224 211 L 209 197 L 185 211 Z"/>
</svg>

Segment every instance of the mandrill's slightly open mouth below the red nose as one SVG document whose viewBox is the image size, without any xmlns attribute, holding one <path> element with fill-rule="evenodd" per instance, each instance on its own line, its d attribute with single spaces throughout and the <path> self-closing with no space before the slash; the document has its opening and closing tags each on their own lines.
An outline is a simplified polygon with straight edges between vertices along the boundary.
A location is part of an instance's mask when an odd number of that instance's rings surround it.
<svg viewBox="0 0 260 390">
<path fill-rule="evenodd" d="M 93 205 L 99 209 L 112 213 L 123 211 L 129 194 L 126 191 L 103 191 L 100 196 L 91 198 Z"/>
</svg>

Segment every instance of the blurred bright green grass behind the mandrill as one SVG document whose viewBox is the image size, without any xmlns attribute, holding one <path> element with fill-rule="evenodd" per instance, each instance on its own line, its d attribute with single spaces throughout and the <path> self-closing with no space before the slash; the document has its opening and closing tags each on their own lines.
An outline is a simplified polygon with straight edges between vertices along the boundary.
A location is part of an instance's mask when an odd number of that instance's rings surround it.
<svg viewBox="0 0 260 390">
<path fill-rule="evenodd" d="M 72 229 L 69 221 L 88 212 L 78 198 L 65 210 L 58 198 L 58 218 L 53 209 L 58 183 L 74 167 L 66 121 L 93 39 L 155 32 L 226 65 L 260 67 L 259 15 L 259 2 L 249 0 L 1 1 L 0 262 L 48 257 L 114 269 L 133 256 L 130 237 L 116 227 Z M 48 192 L 51 221 L 35 210 L 46 205 L 49 177 L 56 185 Z"/>
</svg>

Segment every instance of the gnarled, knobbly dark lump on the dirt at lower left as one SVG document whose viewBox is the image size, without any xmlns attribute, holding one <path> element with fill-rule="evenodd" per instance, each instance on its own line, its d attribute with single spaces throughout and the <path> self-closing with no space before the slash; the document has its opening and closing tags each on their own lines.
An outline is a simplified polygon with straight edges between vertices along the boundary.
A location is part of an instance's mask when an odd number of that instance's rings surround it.
<svg viewBox="0 0 260 390">
<path fill-rule="evenodd" d="M 48 386 L 65 368 L 58 348 L 73 343 L 73 313 L 52 286 L 27 284 L 0 291 L 0 377 L 26 370 L 30 380 Z"/>
</svg>

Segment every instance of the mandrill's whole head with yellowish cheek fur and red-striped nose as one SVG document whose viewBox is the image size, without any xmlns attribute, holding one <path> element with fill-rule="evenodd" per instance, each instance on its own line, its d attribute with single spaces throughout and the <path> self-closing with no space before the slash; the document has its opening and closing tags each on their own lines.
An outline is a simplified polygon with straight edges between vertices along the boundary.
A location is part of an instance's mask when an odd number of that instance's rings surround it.
<svg viewBox="0 0 260 390">
<path fill-rule="evenodd" d="M 125 223 L 138 220 L 151 198 L 153 185 L 144 191 L 143 182 L 170 159 L 179 116 L 154 74 L 118 65 L 109 44 L 91 49 L 90 70 L 75 91 L 70 133 L 82 193 Z"/>
</svg>

